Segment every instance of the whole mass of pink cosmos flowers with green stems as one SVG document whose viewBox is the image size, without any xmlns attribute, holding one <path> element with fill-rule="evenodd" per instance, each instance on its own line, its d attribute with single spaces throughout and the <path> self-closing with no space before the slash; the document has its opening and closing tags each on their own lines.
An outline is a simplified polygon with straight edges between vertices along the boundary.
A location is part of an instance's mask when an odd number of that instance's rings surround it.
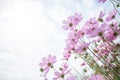
<svg viewBox="0 0 120 80">
<path fill-rule="evenodd" d="M 98 0 L 106 2 L 107 0 Z M 113 4 L 119 0 L 110 0 Z M 120 80 L 120 22 L 117 19 L 119 11 L 114 9 L 105 13 L 100 11 L 98 17 L 82 22 L 82 14 L 75 13 L 63 21 L 63 29 L 68 31 L 62 60 L 64 63 L 58 70 L 54 67 L 56 57 L 43 57 L 40 71 L 45 80 L 50 69 L 53 70 L 52 80 Z M 81 25 L 81 23 L 84 23 Z M 69 64 L 70 59 L 83 59 L 80 67 L 84 74 Z M 86 67 L 87 68 L 86 68 Z M 93 72 L 91 74 L 89 70 Z M 74 74 L 72 71 L 77 72 Z"/>
</svg>

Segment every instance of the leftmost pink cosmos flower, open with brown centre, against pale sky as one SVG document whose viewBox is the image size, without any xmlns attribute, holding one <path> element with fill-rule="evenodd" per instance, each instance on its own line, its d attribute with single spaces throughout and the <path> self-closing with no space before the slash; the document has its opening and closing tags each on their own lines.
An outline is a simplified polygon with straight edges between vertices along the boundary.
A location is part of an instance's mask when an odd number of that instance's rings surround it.
<svg viewBox="0 0 120 80">
<path fill-rule="evenodd" d="M 44 74 L 46 75 L 49 72 L 50 68 L 53 68 L 53 64 L 56 62 L 56 57 L 52 55 L 48 55 L 48 58 L 43 57 L 41 63 L 39 65 L 42 67 Z"/>
</svg>

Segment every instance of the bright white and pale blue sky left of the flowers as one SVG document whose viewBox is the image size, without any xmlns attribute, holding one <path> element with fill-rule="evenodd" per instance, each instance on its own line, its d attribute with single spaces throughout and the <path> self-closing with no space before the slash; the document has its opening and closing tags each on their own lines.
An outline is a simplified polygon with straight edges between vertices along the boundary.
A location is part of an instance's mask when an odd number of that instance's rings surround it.
<svg viewBox="0 0 120 80">
<path fill-rule="evenodd" d="M 0 0 L 0 80 L 40 80 L 41 58 L 62 57 L 62 21 L 75 12 L 87 19 L 100 10 L 96 0 Z"/>
</svg>

